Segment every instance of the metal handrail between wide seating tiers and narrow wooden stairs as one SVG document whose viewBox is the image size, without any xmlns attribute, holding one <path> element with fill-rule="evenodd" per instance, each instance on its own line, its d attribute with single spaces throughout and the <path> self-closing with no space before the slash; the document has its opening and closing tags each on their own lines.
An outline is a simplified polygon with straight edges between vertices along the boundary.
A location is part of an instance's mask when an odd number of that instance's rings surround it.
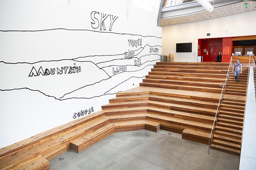
<svg viewBox="0 0 256 170">
<path fill-rule="evenodd" d="M 218 103 L 217 111 L 216 111 L 215 118 L 214 118 L 213 125 L 212 125 L 212 131 L 211 131 L 211 134 L 209 136 L 208 154 L 210 154 L 210 149 L 212 149 L 212 138 L 213 138 L 213 135 L 214 135 L 215 126 L 217 125 L 218 113 L 221 110 L 222 99 L 223 99 L 223 97 L 224 97 L 224 95 L 226 93 L 227 84 L 228 84 L 228 78 L 229 78 L 229 72 L 231 70 L 231 65 L 232 65 L 232 56 L 231 56 L 230 62 L 229 62 L 229 67 L 228 67 L 228 73 L 227 73 L 226 81 L 225 81 L 224 85 L 222 86 L 221 97 L 219 98 L 219 103 Z M 216 121 L 216 125 L 215 125 L 215 121 Z M 210 145 L 210 143 L 211 143 L 211 145 Z"/>
</svg>

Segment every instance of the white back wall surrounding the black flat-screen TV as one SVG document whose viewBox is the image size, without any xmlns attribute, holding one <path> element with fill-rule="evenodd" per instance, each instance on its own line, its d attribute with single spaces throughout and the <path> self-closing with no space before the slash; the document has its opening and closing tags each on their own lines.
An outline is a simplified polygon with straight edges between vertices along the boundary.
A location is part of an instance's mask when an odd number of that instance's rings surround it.
<svg viewBox="0 0 256 170">
<path fill-rule="evenodd" d="M 163 55 L 174 54 L 174 62 L 196 62 L 198 39 L 256 35 L 255 16 L 256 11 L 251 11 L 207 21 L 164 26 L 162 27 Z M 206 36 L 205 30 L 209 29 L 212 30 L 211 36 Z M 176 53 L 176 43 L 192 43 L 192 52 Z"/>
</svg>

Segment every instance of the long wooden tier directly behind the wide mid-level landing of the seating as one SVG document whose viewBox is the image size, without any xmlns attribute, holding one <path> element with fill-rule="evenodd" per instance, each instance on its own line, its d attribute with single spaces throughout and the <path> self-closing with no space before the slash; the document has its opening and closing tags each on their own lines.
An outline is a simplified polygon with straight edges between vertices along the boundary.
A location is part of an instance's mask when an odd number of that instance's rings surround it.
<svg viewBox="0 0 256 170">
<path fill-rule="evenodd" d="M 140 83 L 140 86 L 168 88 L 168 89 L 176 89 L 176 90 L 211 92 L 211 93 L 221 93 L 222 91 L 221 88 L 194 87 L 194 86 L 185 86 L 185 85 L 169 85 L 169 84 L 145 83 L 145 82 Z"/>
</svg>

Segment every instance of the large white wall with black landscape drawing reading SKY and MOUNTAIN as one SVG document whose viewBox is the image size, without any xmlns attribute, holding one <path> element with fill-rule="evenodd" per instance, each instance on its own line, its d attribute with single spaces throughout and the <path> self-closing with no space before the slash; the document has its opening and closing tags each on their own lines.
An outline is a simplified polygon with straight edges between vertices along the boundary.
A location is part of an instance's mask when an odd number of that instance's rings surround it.
<svg viewBox="0 0 256 170">
<path fill-rule="evenodd" d="M 54 1 L 0 1 L 0 148 L 101 110 L 160 59 L 161 28 Z M 95 27 L 93 11 L 99 21 L 107 14 L 106 30 Z"/>
</svg>

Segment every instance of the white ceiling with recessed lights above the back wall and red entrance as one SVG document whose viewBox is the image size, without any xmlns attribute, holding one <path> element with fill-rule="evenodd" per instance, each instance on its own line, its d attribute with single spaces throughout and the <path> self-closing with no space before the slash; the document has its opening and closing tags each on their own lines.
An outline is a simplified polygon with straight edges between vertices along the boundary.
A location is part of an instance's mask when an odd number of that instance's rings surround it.
<svg viewBox="0 0 256 170">
<path fill-rule="evenodd" d="M 177 8 L 169 8 L 168 10 L 168 7 L 163 7 L 160 26 L 199 22 L 256 10 L 256 2 L 225 1 L 221 3 L 215 3 L 212 4 L 214 6 L 214 10 L 212 12 L 206 11 L 200 5 L 195 6 L 195 3 L 197 2 L 190 2 L 190 4 L 194 6 L 186 8 L 181 8 L 178 6 Z M 247 8 L 245 7 L 245 3 L 248 3 Z"/>
</svg>

